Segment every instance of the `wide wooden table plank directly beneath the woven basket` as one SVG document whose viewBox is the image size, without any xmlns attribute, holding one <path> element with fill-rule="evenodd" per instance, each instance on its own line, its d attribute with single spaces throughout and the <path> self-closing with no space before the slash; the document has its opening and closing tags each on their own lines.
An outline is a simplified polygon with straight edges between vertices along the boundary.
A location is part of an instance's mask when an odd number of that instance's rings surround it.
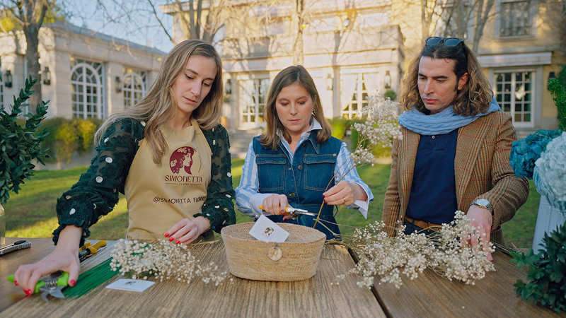
<svg viewBox="0 0 566 318">
<path fill-rule="evenodd" d="M 221 242 L 192 247 L 192 252 L 205 263 L 214 261 L 221 269 L 228 270 Z M 106 259 L 104 255 L 96 258 Z M 1 314 L 6 317 L 385 317 L 371 291 L 358 288 L 355 279 L 330 285 L 337 273 L 344 273 L 352 266 L 347 249 L 328 246 L 316 276 L 306 281 L 263 282 L 233 277 L 233 282 L 226 281 L 217 287 L 202 281 L 190 285 L 168 281 L 157 282 L 144 293 L 100 286 L 79 300 L 45 303 L 38 296 L 25 298 Z"/>
</svg>

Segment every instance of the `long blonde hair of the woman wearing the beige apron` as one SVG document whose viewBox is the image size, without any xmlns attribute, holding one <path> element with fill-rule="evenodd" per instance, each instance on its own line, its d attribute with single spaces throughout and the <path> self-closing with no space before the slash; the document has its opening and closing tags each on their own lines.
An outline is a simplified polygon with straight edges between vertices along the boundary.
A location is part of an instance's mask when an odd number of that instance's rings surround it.
<svg viewBox="0 0 566 318">
<path fill-rule="evenodd" d="M 185 69 L 189 58 L 194 55 L 209 57 L 216 63 L 216 76 L 208 95 L 192 112 L 202 129 L 212 129 L 218 124 L 221 114 L 222 95 L 222 63 L 216 49 L 200 40 L 185 40 L 175 45 L 167 55 L 157 78 L 149 88 L 149 92 L 136 105 L 122 112 L 111 114 L 100 126 L 95 135 L 95 143 L 100 142 L 110 124 L 124 118 L 132 118 L 146 122 L 144 138 L 153 151 L 154 163 L 161 163 L 161 157 L 166 151 L 167 142 L 159 127 L 175 114 L 175 99 L 173 98 L 173 83 Z"/>
</svg>

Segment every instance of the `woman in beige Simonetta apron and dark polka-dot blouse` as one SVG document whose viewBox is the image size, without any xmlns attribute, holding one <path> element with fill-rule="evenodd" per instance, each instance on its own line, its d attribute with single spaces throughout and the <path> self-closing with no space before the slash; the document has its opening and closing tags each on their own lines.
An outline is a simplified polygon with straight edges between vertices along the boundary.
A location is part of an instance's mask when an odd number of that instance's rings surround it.
<svg viewBox="0 0 566 318">
<path fill-rule="evenodd" d="M 211 45 L 186 40 L 171 50 L 149 93 L 98 129 L 91 167 L 57 200 L 54 251 L 20 266 L 16 285 L 30 295 L 40 277 L 57 270 L 69 272 L 74 285 L 79 246 L 119 192 L 127 199 L 129 239 L 187 244 L 235 223 L 229 139 L 218 124 L 221 74 Z"/>
</svg>

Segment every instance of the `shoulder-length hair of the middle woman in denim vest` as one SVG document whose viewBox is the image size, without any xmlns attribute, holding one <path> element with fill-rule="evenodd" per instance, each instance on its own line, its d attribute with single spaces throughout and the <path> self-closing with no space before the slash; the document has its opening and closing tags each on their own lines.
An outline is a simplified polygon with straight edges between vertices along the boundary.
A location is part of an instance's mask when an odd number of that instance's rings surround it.
<svg viewBox="0 0 566 318">
<path fill-rule="evenodd" d="M 320 103 L 320 96 L 314 85 L 313 78 L 303 66 L 289 66 L 275 76 L 270 86 L 269 93 L 267 93 L 267 105 L 265 105 L 264 114 L 267 129 L 260 137 L 260 142 L 265 148 L 276 150 L 280 141 L 279 134 L 281 134 L 285 140 L 291 141 L 291 136 L 287 133 L 281 120 L 279 120 L 277 116 L 275 102 L 281 90 L 293 83 L 299 83 L 303 86 L 313 100 L 313 117 L 315 117 L 320 123 L 320 126 L 322 126 L 322 129 L 317 132 L 316 141 L 318 143 L 325 143 L 332 134 L 330 124 L 328 124 L 324 118 L 323 105 Z"/>
</svg>

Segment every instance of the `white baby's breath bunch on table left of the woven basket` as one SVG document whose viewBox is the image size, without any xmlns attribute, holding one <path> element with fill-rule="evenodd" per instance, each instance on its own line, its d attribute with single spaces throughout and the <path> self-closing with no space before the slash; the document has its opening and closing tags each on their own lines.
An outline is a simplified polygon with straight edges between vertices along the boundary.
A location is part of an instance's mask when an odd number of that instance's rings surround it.
<svg viewBox="0 0 566 318">
<path fill-rule="evenodd" d="M 155 276 L 159 281 L 183 281 L 190 283 L 201 278 L 204 283 L 219 285 L 228 273 L 219 271 L 211 262 L 201 265 L 184 244 L 172 244 L 168 240 L 153 243 L 137 240 L 119 240 L 112 250 L 110 268 L 123 276 L 147 279 Z"/>
</svg>

